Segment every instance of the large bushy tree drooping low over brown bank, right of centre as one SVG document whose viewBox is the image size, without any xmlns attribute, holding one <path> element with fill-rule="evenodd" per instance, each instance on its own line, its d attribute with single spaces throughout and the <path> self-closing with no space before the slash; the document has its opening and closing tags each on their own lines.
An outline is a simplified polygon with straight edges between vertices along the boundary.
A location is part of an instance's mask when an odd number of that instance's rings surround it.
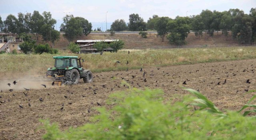
<svg viewBox="0 0 256 140">
<path fill-rule="evenodd" d="M 167 39 L 172 44 L 182 45 L 186 44 L 185 39 L 190 33 L 190 20 L 188 17 L 177 16 L 175 20 L 170 20 L 167 24 L 167 29 L 171 32 Z"/>
</svg>

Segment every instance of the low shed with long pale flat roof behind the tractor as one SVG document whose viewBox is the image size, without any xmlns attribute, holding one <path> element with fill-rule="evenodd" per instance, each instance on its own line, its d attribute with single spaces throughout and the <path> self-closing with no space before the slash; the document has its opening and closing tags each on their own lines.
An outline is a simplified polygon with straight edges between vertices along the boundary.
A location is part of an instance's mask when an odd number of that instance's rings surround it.
<svg viewBox="0 0 256 140">
<path fill-rule="evenodd" d="M 118 41 L 118 40 L 77 40 L 75 44 L 78 44 L 80 47 L 80 53 L 93 53 L 93 52 L 98 52 L 95 48 L 93 48 L 93 45 L 96 42 L 106 42 L 107 44 L 110 44 L 113 41 Z M 112 48 L 106 48 L 104 51 L 106 52 L 112 52 Z"/>
</svg>

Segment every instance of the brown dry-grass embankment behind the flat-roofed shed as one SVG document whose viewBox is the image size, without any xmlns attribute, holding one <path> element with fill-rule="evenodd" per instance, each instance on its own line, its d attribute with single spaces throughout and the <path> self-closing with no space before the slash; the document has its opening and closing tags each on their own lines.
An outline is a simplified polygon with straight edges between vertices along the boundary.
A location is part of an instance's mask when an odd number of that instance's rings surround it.
<svg viewBox="0 0 256 140">
<path fill-rule="evenodd" d="M 156 36 L 156 33 L 149 33 L 148 38 L 142 38 L 139 34 L 89 34 L 88 36 L 80 36 L 76 40 L 105 40 L 105 39 L 119 39 L 125 42 L 126 49 L 143 49 L 143 48 L 174 48 L 178 46 L 173 46 L 168 43 L 168 40 L 164 38 L 164 42 L 160 37 Z M 74 42 L 76 41 L 74 40 Z M 213 37 L 205 36 L 205 34 L 198 38 L 194 33 L 188 34 L 186 38 L 187 46 L 182 47 L 198 47 L 198 46 L 221 46 L 221 45 L 238 45 L 236 40 L 233 40 L 231 34 L 227 37 L 221 32 L 215 32 Z M 54 48 L 66 49 L 68 41 L 66 38 L 60 35 L 60 40 L 58 40 Z"/>
</svg>

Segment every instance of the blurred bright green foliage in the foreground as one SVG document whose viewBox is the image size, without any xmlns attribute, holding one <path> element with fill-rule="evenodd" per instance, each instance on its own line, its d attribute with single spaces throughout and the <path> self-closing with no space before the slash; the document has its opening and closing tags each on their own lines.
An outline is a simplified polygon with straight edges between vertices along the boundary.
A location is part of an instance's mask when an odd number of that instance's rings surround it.
<svg viewBox="0 0 256 140">
<path fill-rule="evenodd" d="M 56 123 L 44 122 L 46 140 L 242 140 L 256 139 L 256 118 L 238 112 L 220 112 L 206 97 L 163 103 L 162 90 L 132 89 L 110 95 L 111 110 L 96 108 L 92 123 L 60 131 Z M 253 99 L 252 99 L 253 100 Z M 193 105 L 200 110 L 194 111 Z M 205 110 L 207 108 L 208 110 Z M 210 112 L 210 113 L 209 113 Z M 212 114 L 214 113 L 214 114 Z"/>
</svg>

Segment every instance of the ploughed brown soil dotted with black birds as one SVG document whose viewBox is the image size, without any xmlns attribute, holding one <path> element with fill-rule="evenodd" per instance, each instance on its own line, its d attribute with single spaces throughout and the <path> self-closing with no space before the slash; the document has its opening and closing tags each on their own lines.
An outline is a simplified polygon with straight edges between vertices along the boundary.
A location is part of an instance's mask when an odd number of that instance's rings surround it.
<svg viewBox="0 0 256 140">
<path fill-rule="evenodd" d="M 127 86 L 121 85 L 122 79 L 135 88 L 162 88 L 165 92 L 164 98 L 173 101 L 180 100 L 180 97 L 188 94 L 181 89 L 181 86 L 186 86 L 199 90 L 223 111 L 239 110 L 253 96 L 253 93 L 244 94 L 245 90 L 256 89 L 255 69 L 256 60 L 170 66 L 161 67 L 159 70 L 150 67 L 144 68 L 142 72 L 128 70 L 94 73 L 94 82 L 90 84 L 84 84 L 80 80 L 78 85 L 56 88 L 48 88 L 47 85 L 47 88 L 31 89 L 28 93 L 24 89 L 12 92 L 4 90 L 0 92 L 0 101 L 3 102 L 0 104 L 0 140 L 42 139 L 45 132 L 37 130 L 42 125 L 39 119 L 48 118 L 51 122 L 58 122 L 62 130 L 89 123 L 90 116 L 98 114 L 96 110 L 91 109 L 98 106 L 96 102 L 111 108 L 110 105 L 106 105 L 108 95 L 127 89 Z M 143 77 L 144 71 L 146 82 Z M 246 83 L 248 79 L 250 84 Z M 184 81 L 186 85 L 182 84 Z M 10 88 L 15 89 L 19 84 L 21 83 L 11 84 Z M 8 88 L 6 83 L 0 86 L 0 90 L 6 89 L 2 86 Z M 40 102 L 39 98 L 42 98 L 43 102 Z M 28 103 L 31 106 L 28 106 Z M 60 110 L 63 103 L 64 108 Z"/>
</svg>

